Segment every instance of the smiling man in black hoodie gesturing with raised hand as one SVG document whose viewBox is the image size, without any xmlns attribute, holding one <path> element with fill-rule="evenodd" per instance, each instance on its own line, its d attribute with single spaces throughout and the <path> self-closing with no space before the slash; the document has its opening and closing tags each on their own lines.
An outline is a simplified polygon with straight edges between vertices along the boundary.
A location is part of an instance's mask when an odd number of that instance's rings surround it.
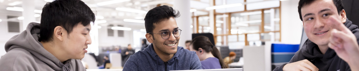
<svg viewBox="0 0 359 71">
<path fill-rule="evenodd" d="M 308 39 L 274 71 L 359 71 L 359 29 L 341 0 L 300 0 L 298 12 Z"/>
</svg>

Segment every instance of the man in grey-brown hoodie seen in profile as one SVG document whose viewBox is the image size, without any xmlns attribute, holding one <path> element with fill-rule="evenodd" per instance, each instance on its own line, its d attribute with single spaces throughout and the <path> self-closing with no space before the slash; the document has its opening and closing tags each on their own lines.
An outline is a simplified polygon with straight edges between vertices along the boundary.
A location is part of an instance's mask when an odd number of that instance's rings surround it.
<svg viewBox="0 0 359 71">
<path fill-rule="evenodd" d="M 83 1 L 55 0 L 42 9 L 41 24 L 29 23 L 5 44 L 0 71 L 86 71 L 79 59 L 91 44 L 95 15 Z"/>
</svg>

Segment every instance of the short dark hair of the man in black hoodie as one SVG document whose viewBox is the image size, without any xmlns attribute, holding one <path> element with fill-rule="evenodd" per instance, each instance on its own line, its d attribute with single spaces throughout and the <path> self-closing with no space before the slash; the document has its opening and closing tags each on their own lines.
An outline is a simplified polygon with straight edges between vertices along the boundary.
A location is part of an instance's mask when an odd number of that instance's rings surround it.
<svg viewBox="0 0 359 71">
<path fill-rule="evenodd" d="M 302 7 L 305 6 L 305 5 L 308 5 L 308 4 L 311 4 L 313 1 L 315 0 L 299 0 L 299 3 L 298 3 L 298 12 L 299 12 L 299 18 L 300 20 L 303 21 L 303 18 L 302 18 Z M 342 1 L 341 0 L 332 0 L 335 7 L 337 8 L 337 11 L 338 11 L 338 14 L 341 13 L 341 10 L 344 9 L 344 6 L 342 4 Z"/>
</svg>

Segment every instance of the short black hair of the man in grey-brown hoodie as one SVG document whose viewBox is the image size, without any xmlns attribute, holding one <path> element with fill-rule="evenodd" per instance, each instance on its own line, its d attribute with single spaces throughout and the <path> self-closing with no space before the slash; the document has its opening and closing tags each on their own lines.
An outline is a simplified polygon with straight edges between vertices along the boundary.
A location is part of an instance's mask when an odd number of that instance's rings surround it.
<svg viewBox="0 0 359 71">
<path fill-rule="evenodd" d="M 39 41 L 53 40 L 53 30 L 56 26 L 63 27 L 71 33 L 79 22 L 83 26 L 95 21 L 95 14 L 81 0 L 55 0 L 47 2 L 42 8 Z"/>
</svg>

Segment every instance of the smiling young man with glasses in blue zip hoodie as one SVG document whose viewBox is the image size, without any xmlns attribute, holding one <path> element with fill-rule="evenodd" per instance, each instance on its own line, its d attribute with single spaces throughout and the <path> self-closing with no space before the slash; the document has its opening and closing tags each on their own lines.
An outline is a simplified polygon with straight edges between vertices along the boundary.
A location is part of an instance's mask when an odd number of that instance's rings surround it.
<svg viewBox="0 0 359 71">
<path fill-rule="evenodd" d="M 146 38 L 152 43 L 126 61 L 123 71 L 170 71 L 202 69 L 194 51 L 178 47 L 180 13 L 167 5 L 155 7 L 145 16 Z"/>
</svg>

